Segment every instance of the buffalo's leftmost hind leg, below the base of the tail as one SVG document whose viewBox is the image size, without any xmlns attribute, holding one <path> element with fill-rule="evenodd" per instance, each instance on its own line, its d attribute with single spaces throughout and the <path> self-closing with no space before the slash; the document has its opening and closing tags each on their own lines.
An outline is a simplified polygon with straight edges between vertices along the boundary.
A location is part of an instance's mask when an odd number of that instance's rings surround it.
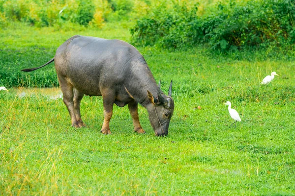
<svg viewBox="0 0 295 196">
<path fill-rule="evenodd" d="M 79 124 L 75 116 L 74 87 L 63 77 L 59 78 L 59 85 L 63 94 L 63 102 L 66 105 L 71 117 L 72 126 L 81 127 L 81 123 Z"/>
</svg>

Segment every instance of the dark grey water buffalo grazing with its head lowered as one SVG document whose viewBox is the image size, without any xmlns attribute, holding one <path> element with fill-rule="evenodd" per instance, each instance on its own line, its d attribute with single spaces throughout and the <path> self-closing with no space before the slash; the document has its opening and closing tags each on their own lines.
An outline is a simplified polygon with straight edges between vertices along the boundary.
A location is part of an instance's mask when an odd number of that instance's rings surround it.
<svg viewBox="0 0 295 196">
<path fill-rule="evenodd" d="M 149 122 L 156 136 L 166 136 L 174 111 L 172 81 L 168 96 L 157 85 L 147 62 L 132 45 L 120 40 L 73 36 L 56 51 L 46 64 L 24 72 L 31 72 L 55 61 L 59 85 L 72 126 L 85 126 L 81 119 L 80 102 L 84 95 L 102 96 L 103 134 L 111 134 L 109 123 L 114 103 L 128 104 L 134 130 L 145 133 L 138 118 L 138 103 L 148 110 Z"/>
</svg>

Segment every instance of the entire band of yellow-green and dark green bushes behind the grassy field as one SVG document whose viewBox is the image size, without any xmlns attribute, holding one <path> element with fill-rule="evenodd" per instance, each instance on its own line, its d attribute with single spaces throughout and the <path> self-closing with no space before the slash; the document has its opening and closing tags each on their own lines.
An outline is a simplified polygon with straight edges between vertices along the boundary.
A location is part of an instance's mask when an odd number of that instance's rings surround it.
<svg viewBox="0 0 295 196">
<path fill-rule="evenodd" d="M 134 44 L 165 48 L 293 49 L 294 20 L 294 0 L 0 0 L 2 27 L 10 21 L 57 29 L 132 21 Z"/>
</svg>

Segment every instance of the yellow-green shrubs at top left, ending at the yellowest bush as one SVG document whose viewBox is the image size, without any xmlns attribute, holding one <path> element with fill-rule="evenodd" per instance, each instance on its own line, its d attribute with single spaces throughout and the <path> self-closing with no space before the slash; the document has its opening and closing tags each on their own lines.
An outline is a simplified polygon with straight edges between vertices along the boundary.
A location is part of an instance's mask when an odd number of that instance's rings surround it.
<svg viewBox="0 0 295 196">
<path fill-rule="evenodd" d="M 69 22 L 101 26 L 112 12 L 107 0 L 0 0 L 0 13 L 9 21 L 57 26 Z"/>
</svg>

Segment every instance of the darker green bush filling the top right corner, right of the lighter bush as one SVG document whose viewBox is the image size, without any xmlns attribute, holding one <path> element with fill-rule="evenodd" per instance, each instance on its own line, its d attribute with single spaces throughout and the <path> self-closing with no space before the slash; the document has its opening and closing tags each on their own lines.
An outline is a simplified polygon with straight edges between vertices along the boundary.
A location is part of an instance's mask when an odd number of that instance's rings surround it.
<svg viewBox="0 0 295 196">
<path fill-rule="evenodd" d="M 246 5 L 219 4 L 205 19 L 204 36 L 213 48 L 281 47 L 294 43 L 295 1 L 249 1 Z"/>
</svg>

